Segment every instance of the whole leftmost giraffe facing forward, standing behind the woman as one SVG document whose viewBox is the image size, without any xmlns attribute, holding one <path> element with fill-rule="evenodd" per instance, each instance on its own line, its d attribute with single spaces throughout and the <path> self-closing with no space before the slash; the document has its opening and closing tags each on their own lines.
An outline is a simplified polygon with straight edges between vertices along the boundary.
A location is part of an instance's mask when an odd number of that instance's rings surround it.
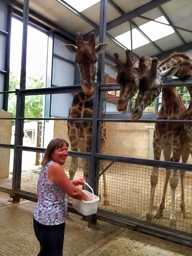
<svg viewBox="0 0 192 256">
<path fill-rule="evenodd" d="M 89 41 L 83 41 L 83 35 L 76 33 L 76 46 L 65 45 L 70 53 L 75 54 L 75 61 L 80 70 L 80 83 L 83 92 L 75 93 L 69 110 L 69 117 L 91 118 L 93 116 L 93 95 L 94 78 L 96 75 L 96 62 L 98 54 L 104 52 L 107 43 L 100 43 L 96 46 L 96 35 L 89 34 Z M 91 121 L 68 121 L 68 137 L 70 139 L 71 150 L 80 152 L 91 152 L 92 122 Z M 101 126 L 101 153 L 104 153 L 106 143 L 106 127 Z M 101 162 L 103 165 L 103 162 Z M 69 168 L 70 180 L 73 180 L 78 166 L 78 158 L 71 157 Z M 88 181 L 89 162 L 87 159 L 83 163 L 84 178 Z M 104 204 L 108 204 L 108 194 L 106 188 L 106 176 L 103 174 L 104 184 Z"/>
</svg>

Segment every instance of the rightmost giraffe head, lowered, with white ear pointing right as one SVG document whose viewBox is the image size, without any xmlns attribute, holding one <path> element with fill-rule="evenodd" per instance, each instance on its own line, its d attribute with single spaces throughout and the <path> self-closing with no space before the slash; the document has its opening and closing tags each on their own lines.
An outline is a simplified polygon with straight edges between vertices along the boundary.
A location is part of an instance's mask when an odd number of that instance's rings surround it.
<svg viewBox="0 0 192 256">
<path fill-rule="evenodd" d="M 158 65 L 157 58 L 152 59 L 152 65 L 145 66 L 144 57 L 139 58 L 139 93 L 135 99 L 135 106 L 132 109 L 131 121 L 137 121 L 146 107 L 148 107 L 158 94 L 162 91 L 162 81 L 171 78 L 180 69 L 180 66 L 170 66 L 163 70 Z"/>
</svg>

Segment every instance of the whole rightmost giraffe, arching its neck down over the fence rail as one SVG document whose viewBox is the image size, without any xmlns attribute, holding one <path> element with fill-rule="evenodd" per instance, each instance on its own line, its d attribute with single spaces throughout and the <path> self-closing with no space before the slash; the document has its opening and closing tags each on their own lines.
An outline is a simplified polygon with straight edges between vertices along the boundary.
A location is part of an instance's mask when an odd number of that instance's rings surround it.
<svg viewBox="0 0 192 256">
<path fill-rule="evenodd" d="M 162 106 L 158 112 L 157 119 L 190 119 L 191 106 L 186 111 L 186 107 L 178 94 L 176 88 L 163 88 L 162 81 L 171 76 L 177 76 L 180 79 L 185 79 L 191 76 L 191 61 L 184 53 L 172 53 L 167 59 L 157 65 L 157 58 L 153 58 L 151 68 L 145 69 L 145 72 L 140 75 L 139 95 L 135 101 L 135 107 L 132 109 L 132 121 L 136 121 L 142 116 L 145 107 L 149 106 L 160 91 L 162 91 Z M 186 114 L 188 112 L 188 114 Z M 190 113 L 189 113 L 190 112 Z M 189 129 L 189 130 L 187 130 Z M 191 135 L 190 124 L 161 124 L 156 123 L 153 134 L 153 153 L 154 159 L 160 160 L 160 153 L 163 150 L 165 161 L 173 160 L 179 162 L 180 157 L 182 162 L 186 163 L 191 151 Z M 171 152 L 173 157 L 171 157 Z M 171 186 L 171 214 L 170 226 L 176 226 L 175 214 L 175 190 L 178 185 L 178 174 L 176 170 L 166 170 L 165 185 L 163 188 L 162 201 L 155 215 L 156 218 L 162 217 L 163 209 L 165 208 L 165 195 L 167 192 L 168 180 Z M 185 202 L 184 202 L 184 180 L 185 171 L 180 171 L 181 178 L 181 212 L 186 218 Z M 150 177 L 151 192 L 149 210 L 146 214 L 146 219 L 152 219 L 152 206 L 155 188 L 158 182 L 158 168 L 154 167 Z"/>
</svg>

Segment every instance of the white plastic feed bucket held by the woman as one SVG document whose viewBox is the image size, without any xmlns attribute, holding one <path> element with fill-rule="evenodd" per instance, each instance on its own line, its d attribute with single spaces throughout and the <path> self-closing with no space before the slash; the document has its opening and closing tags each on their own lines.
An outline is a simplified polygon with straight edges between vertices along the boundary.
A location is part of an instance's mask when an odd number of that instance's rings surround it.
<svg viewBox="0 0 192 256">
<path fill-rule="evenodd" d="M 83 214 L 84 216 L 88 216 L 91 214 L 95 214 L 98 211 L 99 197 L 93 193 L 93 189 L 91 188 L 91 186 L 89 186 L 88 183 L 85 182 L 85 185 L 90 188 L 92 193 L 87 190 L 82 190 L 82 191 L 85 194 L 87 194 L 89 196 L 89 198 L 92 200 L 91 201 L 84 201 L 84 200 L 81 201 L 78 199 L 72 199 L 72 204 L 73 204 L 73 208 L 76 209 L 76 211 Z"/>
</svg>

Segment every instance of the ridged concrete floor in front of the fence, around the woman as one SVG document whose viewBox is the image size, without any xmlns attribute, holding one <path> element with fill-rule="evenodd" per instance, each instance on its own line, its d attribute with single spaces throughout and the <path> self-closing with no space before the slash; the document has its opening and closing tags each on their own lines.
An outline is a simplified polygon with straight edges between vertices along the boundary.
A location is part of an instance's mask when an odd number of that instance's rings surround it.
<svg viewBox="0 0 192 256">
<path fill-rule="evenodd" d="M 8 194 L 0 193 L 0 255 L 37 255 L 39 243 L 32 227 L 35 203 L 22 200 L 12 204 L 9 199 Z M 102 221 L 98 221 L 97 227 L 89 228 L 81 216 L 70 213 L 66 219 L 63 256 L 192 255 L 192 248 L 185 245 Z"/>
</svg>

